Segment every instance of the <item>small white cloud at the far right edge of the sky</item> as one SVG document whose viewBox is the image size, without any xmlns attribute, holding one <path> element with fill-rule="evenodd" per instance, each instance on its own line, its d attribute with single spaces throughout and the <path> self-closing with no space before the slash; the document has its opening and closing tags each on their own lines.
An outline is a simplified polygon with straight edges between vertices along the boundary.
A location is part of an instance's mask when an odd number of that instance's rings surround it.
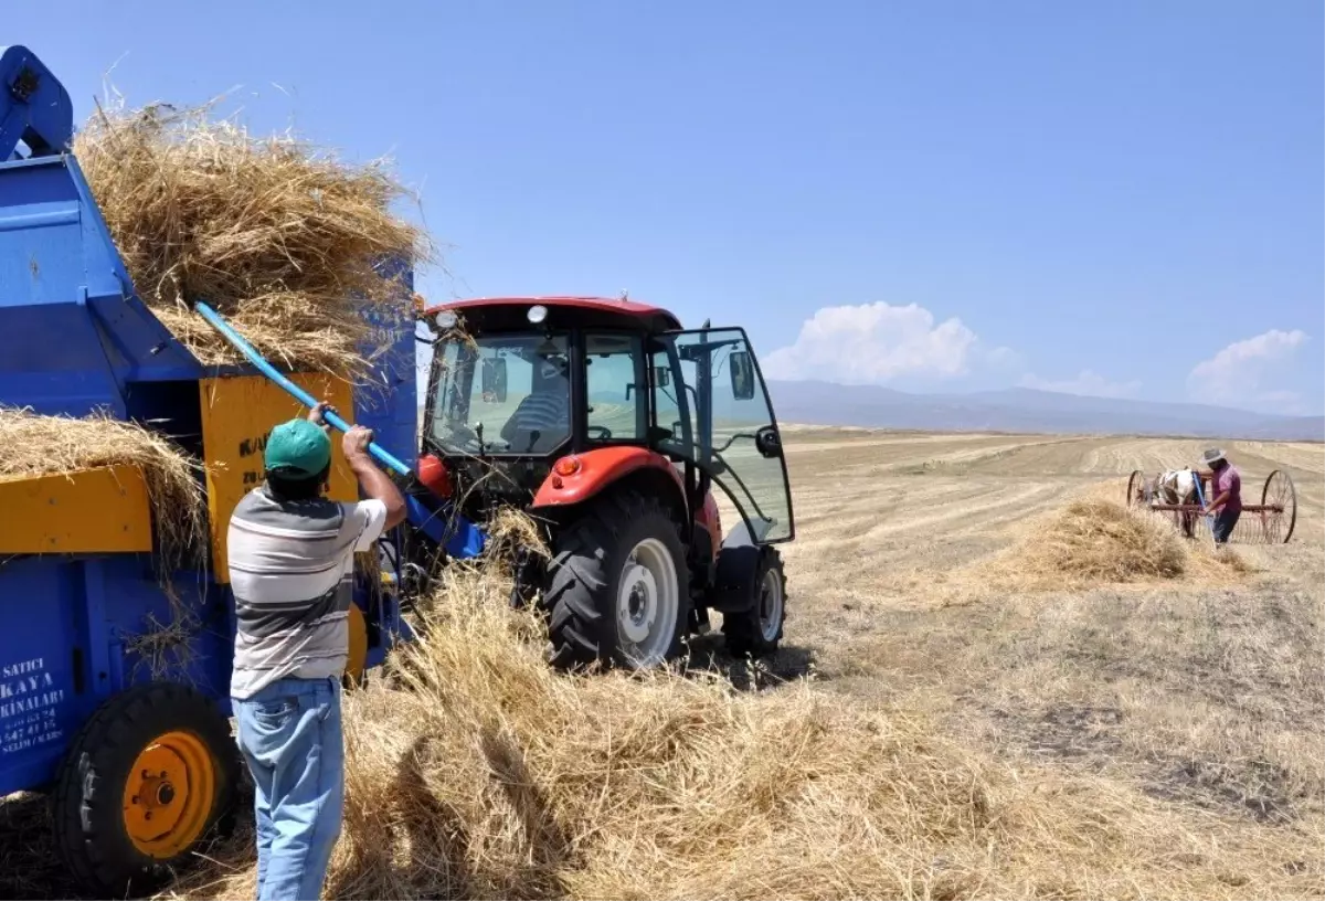
<svg viewBox="0 0 1325 901">
<path fill-rule="evenodd" d="M 1301 396 L 1272 383 L 1287 371 L 1297 350 L 1309 341 L 1301 329 L 1271 329 L 1255 338 L 1236 341 L 1187 376 L 1192 398 L 1210 403 L 1255 407 L 1267 412 L 1300 412 Z"/>
</svg>

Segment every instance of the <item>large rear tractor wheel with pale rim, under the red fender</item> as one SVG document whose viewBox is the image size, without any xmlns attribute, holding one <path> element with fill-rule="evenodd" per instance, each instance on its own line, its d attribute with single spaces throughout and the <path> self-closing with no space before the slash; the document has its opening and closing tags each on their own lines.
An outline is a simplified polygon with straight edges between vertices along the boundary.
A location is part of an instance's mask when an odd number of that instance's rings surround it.
<svg viewBox="0 0 1325 901">
<path fill-rule="evenodd" d="M 549 662 L 651 669 L 684 649 L 690 576 L 681 530 L 656 498 L 617 493 L 559 530 L 545 594 Z"/>
</svg>

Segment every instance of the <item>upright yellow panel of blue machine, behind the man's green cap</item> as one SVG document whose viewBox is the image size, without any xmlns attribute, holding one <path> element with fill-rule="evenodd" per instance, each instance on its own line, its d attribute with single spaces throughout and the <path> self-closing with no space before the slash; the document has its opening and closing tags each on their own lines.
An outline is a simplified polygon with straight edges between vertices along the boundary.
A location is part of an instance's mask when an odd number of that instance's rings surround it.
<svg viewBox="0 0 1325 901">
<path fill-rule="evenodd" d="M 329 400 L 354 423 L 354 398 L 350 384 L 322 374 L 299 374 L 290 380 L 319 400 Z M 274 425 L 307 408 L 278 384 L 262 375 L 235 375 L 201 379 L 199 394 L 203 405 L 203 456 L 207 464 L 207 504 L 212 529 L 212 562 L 216 580 L 228 583 L 225 533 L 235 505 L 262 484 L 262 448 Z M 338 501 L 359 500 L 358 484 L 341 453 L 339 436 L 331 440 L 331 490 Z"/>
</svg>

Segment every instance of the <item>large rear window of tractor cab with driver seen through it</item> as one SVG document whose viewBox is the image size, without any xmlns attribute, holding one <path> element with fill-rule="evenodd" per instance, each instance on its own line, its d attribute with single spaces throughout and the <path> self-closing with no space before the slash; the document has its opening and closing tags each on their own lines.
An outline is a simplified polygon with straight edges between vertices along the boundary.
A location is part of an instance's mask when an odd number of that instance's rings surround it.
<svg viewBox="0 0 1325 901">
<path fill-rule="evenodd" d="M 564 335 L 445 337 L 428 435 L 444 453 L 547 454 L 571 433 Z"/>
</svg>

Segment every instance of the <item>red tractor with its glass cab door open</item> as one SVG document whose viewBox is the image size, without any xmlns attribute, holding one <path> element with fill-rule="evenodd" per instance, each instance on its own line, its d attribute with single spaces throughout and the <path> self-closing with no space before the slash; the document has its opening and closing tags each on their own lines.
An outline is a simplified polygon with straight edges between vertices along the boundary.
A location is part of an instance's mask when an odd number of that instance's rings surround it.
<svg viewBox="0 0 1325 901">
<path fill-rule="evenodd" d="M 549 660 L 652 668 L 722 613 L 727 648 L 778 648 L 795 526 L 772 405 L 742 329 L 582 297 L 429 307 L 436 329 L 420 482 L 477 521 L 530 513 L 551 559 L 522 554 Z M 741 517 L 726 535 L 710 486 Z"/>
</svg>

